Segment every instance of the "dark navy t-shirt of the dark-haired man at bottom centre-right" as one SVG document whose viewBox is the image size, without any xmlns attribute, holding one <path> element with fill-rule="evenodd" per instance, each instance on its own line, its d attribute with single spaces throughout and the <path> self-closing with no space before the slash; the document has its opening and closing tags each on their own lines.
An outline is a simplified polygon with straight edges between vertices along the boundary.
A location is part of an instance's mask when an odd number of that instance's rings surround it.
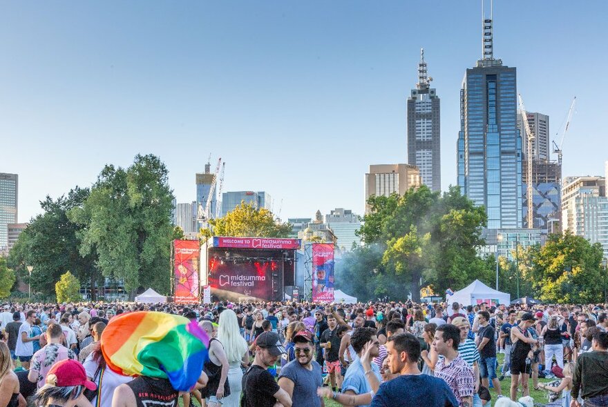
<svg viewBox="0 0 608 407">
<path fill-rule="evenodd" d="M 458 407 L 448 384 L 429 375 L 401 375 L 380 385 L 371 407 Z"/>
</svg>

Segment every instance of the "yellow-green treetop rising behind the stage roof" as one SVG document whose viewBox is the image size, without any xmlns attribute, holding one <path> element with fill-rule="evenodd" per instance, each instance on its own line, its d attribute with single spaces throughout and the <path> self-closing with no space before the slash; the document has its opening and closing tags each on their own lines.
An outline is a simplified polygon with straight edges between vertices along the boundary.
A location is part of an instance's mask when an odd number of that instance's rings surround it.
<svg viewBox="0 0 608 407">
<path fill-rule="evenodd" d="M 289 237 L 292 231 L 291 225 L 276 221 L 269 210 L 244 201 L 225 217 L 210 219 L 209 224 L 210 228 L 200 230 L 201 237 Z"/>
</svg>

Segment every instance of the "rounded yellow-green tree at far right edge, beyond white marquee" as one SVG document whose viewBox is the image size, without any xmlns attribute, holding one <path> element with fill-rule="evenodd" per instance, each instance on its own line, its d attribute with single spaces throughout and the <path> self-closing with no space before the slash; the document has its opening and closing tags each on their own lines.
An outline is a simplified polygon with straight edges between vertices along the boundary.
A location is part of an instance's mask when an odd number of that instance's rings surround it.
<svg viewBox="0 0 608 407">
<path fill-rule="evenodd" d="M 591 244 L 567 230 L 549 235 L 547 244 L 531 255 L 530 279 L 540 299 L 548 302 L 601 301 L 603 284 L 602 246 Z"/>
</svg>

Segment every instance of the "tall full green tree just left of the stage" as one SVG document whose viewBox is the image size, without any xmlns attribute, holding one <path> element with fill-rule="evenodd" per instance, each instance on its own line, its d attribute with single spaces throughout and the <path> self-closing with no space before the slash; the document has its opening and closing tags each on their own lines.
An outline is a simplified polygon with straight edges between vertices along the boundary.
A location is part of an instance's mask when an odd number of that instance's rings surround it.
<svg viewBox="0 0 608 407">
<path fill-rule="evenodd" d="M 68 214 L 82 226 L 80 254 L 95 255 L 106 277 L 122 279 L 130 297 L 143 286 L 169 293 L 173 192 L 164 163 L 137 155 L 127 168 L 104 167 L 82 208 Z"/>
</svg>

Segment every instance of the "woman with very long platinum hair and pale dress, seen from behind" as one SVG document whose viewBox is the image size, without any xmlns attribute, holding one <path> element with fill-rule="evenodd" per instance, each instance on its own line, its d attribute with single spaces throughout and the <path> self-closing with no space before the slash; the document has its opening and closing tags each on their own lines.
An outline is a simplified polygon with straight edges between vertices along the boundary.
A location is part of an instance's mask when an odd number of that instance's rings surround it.
<svg viewBox="0 0 608 407">
<path fill-rule="evenodd" d="M 240 335 L 240 328 L 233 310 L 224 310 L 220 314 L 218 328 L 218 341 L 224 346 L 230 368 L 228 370 L 228 383 L 230 395 L 222 399 L 222 407 L 238 407 L 240 405 L 240 392 L 243 389 L 241 379 L 243 370 L 241 366 L 249 366 L 249 349 L 247 341 Z"/>
</svg>

